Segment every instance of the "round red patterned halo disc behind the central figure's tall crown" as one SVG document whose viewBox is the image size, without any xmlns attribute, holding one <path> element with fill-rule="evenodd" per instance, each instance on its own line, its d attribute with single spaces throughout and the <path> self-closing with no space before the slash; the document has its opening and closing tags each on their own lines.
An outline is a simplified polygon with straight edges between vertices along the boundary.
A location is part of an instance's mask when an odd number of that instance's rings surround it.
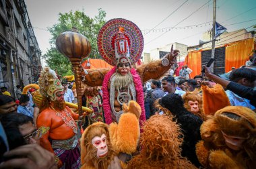
<svg viewBox="0 0 256 169">
<path fill-rule="evenodd" d="M 131 63 L 137 62 L 143 51 L 143 36 L 135 23 L 121 18 L 107 21 L 98 33 L 98 51 L 102 58 L 113 66 L 117 64 L 114 40 L 119 32 L 119 27 L 124 28 L 123 33 L 128 39 Z"/>
</svg>

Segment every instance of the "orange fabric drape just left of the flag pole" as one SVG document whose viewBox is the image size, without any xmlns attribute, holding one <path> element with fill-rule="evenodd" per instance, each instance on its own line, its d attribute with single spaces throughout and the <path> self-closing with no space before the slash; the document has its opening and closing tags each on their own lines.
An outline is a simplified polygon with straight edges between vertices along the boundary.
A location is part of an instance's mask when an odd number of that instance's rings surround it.
<svg viewBox="0 0 256 169">
<path fill-rule="evenodd" d="M 201 74 L 201 50 L 189 52 L 185 58 L 185 65 L 193 70 L 189 74 L 189 78 L 194 78 L 195 75 Z"/>
</svg>

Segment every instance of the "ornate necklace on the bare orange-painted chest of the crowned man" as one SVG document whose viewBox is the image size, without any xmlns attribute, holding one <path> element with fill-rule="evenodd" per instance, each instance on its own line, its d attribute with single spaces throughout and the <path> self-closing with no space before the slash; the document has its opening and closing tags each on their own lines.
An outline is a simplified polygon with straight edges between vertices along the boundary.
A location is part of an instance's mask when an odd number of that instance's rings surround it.
<svg viewBox="0 0 256 169">
<path fill-rule="evenodd" d="M 51 108 L 56 111 L 56 115 L 58 117 L 61 117 L 61 119 L 64 121 L 64 123 L 70 127 L 71 129 L 73 129 L 73 132 L 74 133 L 77 133 L 77 125 L 75 123 L 75 120 L 73 119 L 73 117 L 71 116 L 71 114 L 67 111 L 67 109 L 65 108 L 64 111 L 65 111 L 65 115 L 63 115 L 62 113 L 60 113 L 59 111 L 55 110 L 52 106 Z"/>
</svg>

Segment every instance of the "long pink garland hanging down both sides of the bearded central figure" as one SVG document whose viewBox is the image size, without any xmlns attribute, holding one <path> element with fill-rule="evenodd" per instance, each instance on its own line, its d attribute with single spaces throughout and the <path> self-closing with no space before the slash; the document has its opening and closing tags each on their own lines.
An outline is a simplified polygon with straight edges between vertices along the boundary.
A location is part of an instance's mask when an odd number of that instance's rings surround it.
<svg viewBox="0 0 256 169">
<path fill-rule="evenodd" d="M 115 66 L 106 74 L 102 83 L 103 110 L 104 110 L 105 121 L 107 124 L 110 124 L 113 122 L 113 119 L 111 117 L 111 108 L 110 108 L 110 102 L 109 102 L 110 97 L 109 97 L 109 91 L 108 91 L 108 82 L 111 76 L 116 72 L 116 68 L 117 67 Z M 136 91 L 136 101 L 141 107 L 141 116 L 139 117 L 139 125 L 141 126 L 143 121 L 146 121 L 143 87 L 141 84 L 141 79 L 139 77 L 139 74 L 137 74 L 134 68 L 131 69 L 131 74 L 133 75 L 133 82 L 134 82 L 135 91 Z"/>
</svg>

